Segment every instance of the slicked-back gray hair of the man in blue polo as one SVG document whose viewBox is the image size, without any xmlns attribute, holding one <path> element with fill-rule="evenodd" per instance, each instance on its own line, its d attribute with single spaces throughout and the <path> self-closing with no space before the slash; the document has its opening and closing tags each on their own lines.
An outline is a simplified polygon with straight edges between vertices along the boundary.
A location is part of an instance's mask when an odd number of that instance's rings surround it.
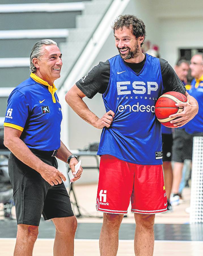
<svg viewBox="0 0 203 256">
<path fill-rule="evenodd" d="M 56 42 L 54 42 L 51 39 L 43 39 L 43 40 L 40 40 L 37 43 L 35 43 L 35 45 L 33 46 L 32 50 L 31 50 L 30 57 L 29 57 L 29 60 L 30 60 L 29 70 L 31 73 L 36 72 L 36 67 L 32 63 L 33 58 L 40 59 L 40 57 L 44 54 L 44 52 L 42 51 L 42 47 L 44 45 L 52 45 L 52 44 L 55 44 L 57 46 Z"/>
</svg>

